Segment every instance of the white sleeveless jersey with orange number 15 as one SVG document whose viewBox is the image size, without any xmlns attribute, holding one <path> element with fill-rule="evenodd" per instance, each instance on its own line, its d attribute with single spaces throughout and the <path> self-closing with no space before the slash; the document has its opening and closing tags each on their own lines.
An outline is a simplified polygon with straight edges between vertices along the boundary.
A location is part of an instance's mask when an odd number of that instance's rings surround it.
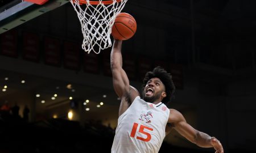
<svg viewBox="0 0 256 153">
<path fill-rule="evenodd" d="M 137 96 L 118 118 L 111 152 L 158 152 L 166 136 L 169 114 L 163 103 L 147 103 Z"/>
</svg>

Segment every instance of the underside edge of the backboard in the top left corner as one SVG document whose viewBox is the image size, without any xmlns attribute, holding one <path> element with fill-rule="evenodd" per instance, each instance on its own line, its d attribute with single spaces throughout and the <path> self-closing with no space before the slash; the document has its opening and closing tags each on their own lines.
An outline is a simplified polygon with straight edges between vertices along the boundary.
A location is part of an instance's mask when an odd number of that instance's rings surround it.
<svg viewBox="0 0 256 153">
<path fill-rule="evenodd" d="M 69 2 L 69 0 L 51 0 L 38 5 L 31 1 L 1 1 L 0 34 Z"/>
</svg>

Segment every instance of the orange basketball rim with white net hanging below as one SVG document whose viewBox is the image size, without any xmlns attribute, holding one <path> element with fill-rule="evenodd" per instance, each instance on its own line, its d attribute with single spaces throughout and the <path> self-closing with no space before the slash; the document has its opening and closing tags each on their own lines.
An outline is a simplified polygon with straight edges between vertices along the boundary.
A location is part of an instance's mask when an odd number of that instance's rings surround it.
<svg viewBox="0 0 256 153">
<path fill-rule="evenodd" d="M 121 12 L 127 0 L 91 1 L 70 0 L 81 23 L 82 49 L 98 54 L 112 46 L 110 33 L 115 17 Z"/>
</svg>

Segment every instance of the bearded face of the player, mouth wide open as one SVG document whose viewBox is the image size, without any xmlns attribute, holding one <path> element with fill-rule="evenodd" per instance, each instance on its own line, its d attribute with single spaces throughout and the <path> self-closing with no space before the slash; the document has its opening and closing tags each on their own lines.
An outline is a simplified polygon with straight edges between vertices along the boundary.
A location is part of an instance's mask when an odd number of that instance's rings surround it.
<svg viewBox="0 0 256 153">
<path fill-rule="evenodd" d="M 160 99 L 164 91 L 162 81 L 159 78 L 151 78 L 144 88 L 143 99 L 147 102 L 154 103 L 156 100 Z"/>
</svg>

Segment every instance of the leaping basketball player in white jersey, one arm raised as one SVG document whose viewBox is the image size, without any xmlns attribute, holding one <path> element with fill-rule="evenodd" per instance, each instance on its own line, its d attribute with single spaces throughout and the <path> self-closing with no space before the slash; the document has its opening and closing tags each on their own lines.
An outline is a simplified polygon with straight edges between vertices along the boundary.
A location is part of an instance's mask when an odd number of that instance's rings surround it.
<svg viewBox="0 0 256 153">
<path fill-rule="evenodd" d="M 192 128 L 180 112 L 166 107 L 175 86 L 165 70 L 156 67 L 146 74 L 141 99 L 122 69 L 121 46 L 122 41 L 114 40 L 110 56 L 114 90 L 121 97 L 111 152 L 158 152 L 164 137 L 175 129 L 197 146 L 213 147 L 216 153 L 223 153 L 220 141 Z"/>
</svg>

